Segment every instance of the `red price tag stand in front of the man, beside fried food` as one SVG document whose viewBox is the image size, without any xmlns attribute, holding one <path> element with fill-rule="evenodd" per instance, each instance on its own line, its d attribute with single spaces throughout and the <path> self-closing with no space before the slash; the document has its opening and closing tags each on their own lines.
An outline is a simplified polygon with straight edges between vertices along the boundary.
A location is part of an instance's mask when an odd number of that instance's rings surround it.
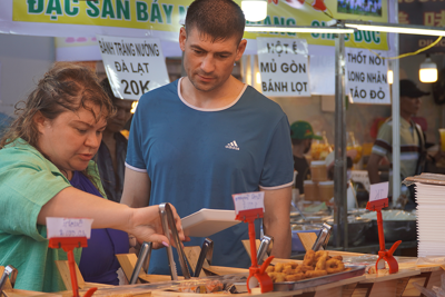
<svg viewBox="0 0 445 297">
<path fill-rule="evenodd" d="M 274 283 L 270 277 L 266 274 L 266 268 L 269 266 L 274 256 L 268 257 L 263 265 L 258 266 L 257 260 L 257 246 L 255 244 L 255 219 L 263 218 L 263 208 L 249 209 L 239 211 L 236 216 L 237 220 L 249 224 L 249 240 L 250 240 L 250 256 L 251 266 L 249 267 L 249 277 L 247 278 L 247 290 L 251 293 L 250 288 L 259 287 L 261 293 L 267 293 L 274 290 Z"/>
</svg>

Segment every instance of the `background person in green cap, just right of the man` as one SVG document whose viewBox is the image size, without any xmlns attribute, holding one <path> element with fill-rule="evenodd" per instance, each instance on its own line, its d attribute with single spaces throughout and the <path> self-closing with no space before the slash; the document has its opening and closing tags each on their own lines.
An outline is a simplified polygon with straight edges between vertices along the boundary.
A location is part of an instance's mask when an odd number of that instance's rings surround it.
<svg viewBox="0 0 445 297">
<path fill-rule="evenodd" d="M 298 120 L 290 125 L 290 139 L 293 143 L 294 169 L 297 171 L 295 188 L 299 194 L 304 194 L 304 180 L 310 179 L 310 166 L 305 155 L 309 152 L 313 139 L 323 140 L 313 131 L 313 127 L 307 121 Z"/>
</svg>

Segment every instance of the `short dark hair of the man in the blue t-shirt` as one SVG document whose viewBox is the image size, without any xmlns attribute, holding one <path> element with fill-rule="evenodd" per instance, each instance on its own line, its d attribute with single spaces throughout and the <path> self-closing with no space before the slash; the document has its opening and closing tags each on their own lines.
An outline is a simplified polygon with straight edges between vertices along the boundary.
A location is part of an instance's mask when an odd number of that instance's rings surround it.
<svg viewBox="0 0 445 297">
<path fill-rule="evenodd" d="M 187 34 L 197 28 L 201 36 L 211 37 L 212 42 L 231 37 L 241 41 L 245 26 L 243 10 L 233 0 L 195 0 L 187 10 Z"/>
</svg>

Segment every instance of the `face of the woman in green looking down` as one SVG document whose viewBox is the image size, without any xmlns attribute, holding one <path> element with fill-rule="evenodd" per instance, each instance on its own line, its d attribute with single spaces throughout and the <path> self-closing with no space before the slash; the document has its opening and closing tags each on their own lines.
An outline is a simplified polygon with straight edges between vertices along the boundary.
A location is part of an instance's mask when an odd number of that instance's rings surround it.
<svg viewBox="0 0 445 297">
<path fill-rule="evenodd" d="M 99 107 L 95 106 L 92 110 L 99 115 Z M 42 117 L 37 125 L 40 132 L 38 148 L 70 179 L 72 171 L 86 169 L 98 151 L 107 121 L 101 118 L 96 122 L 92 112 L 81 108 L 77 112 L 65 111 L 55 120 Z"/>
</svg>

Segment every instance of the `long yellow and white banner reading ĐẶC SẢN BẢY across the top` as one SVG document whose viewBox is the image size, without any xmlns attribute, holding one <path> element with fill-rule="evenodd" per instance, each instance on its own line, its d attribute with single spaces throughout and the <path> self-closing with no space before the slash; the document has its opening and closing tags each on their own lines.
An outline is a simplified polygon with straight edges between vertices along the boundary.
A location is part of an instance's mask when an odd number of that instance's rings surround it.
<svg viewBox="0 0 445 297">
<path fill-rule="evenodd" d="M 93 37 L 96 34 L 156 37 L 178 41 L 192 0 L 1 0 L 0 32 Z M 241 0 L 235 0 L 240 4 Z M 256 23 L 323 27 L 332 19 L 387 22 L 387 0 L 280 0 L 267 6 L 267 17 Z M 249 23 L 247 23 L 249 24 Z M 247 39 L 304 38 L 309 44 L 334 46 L 333 33 L 245 33 Z M 347 47 L 387 50 L 385 33 L 347 36 Z"/>
</svg>

